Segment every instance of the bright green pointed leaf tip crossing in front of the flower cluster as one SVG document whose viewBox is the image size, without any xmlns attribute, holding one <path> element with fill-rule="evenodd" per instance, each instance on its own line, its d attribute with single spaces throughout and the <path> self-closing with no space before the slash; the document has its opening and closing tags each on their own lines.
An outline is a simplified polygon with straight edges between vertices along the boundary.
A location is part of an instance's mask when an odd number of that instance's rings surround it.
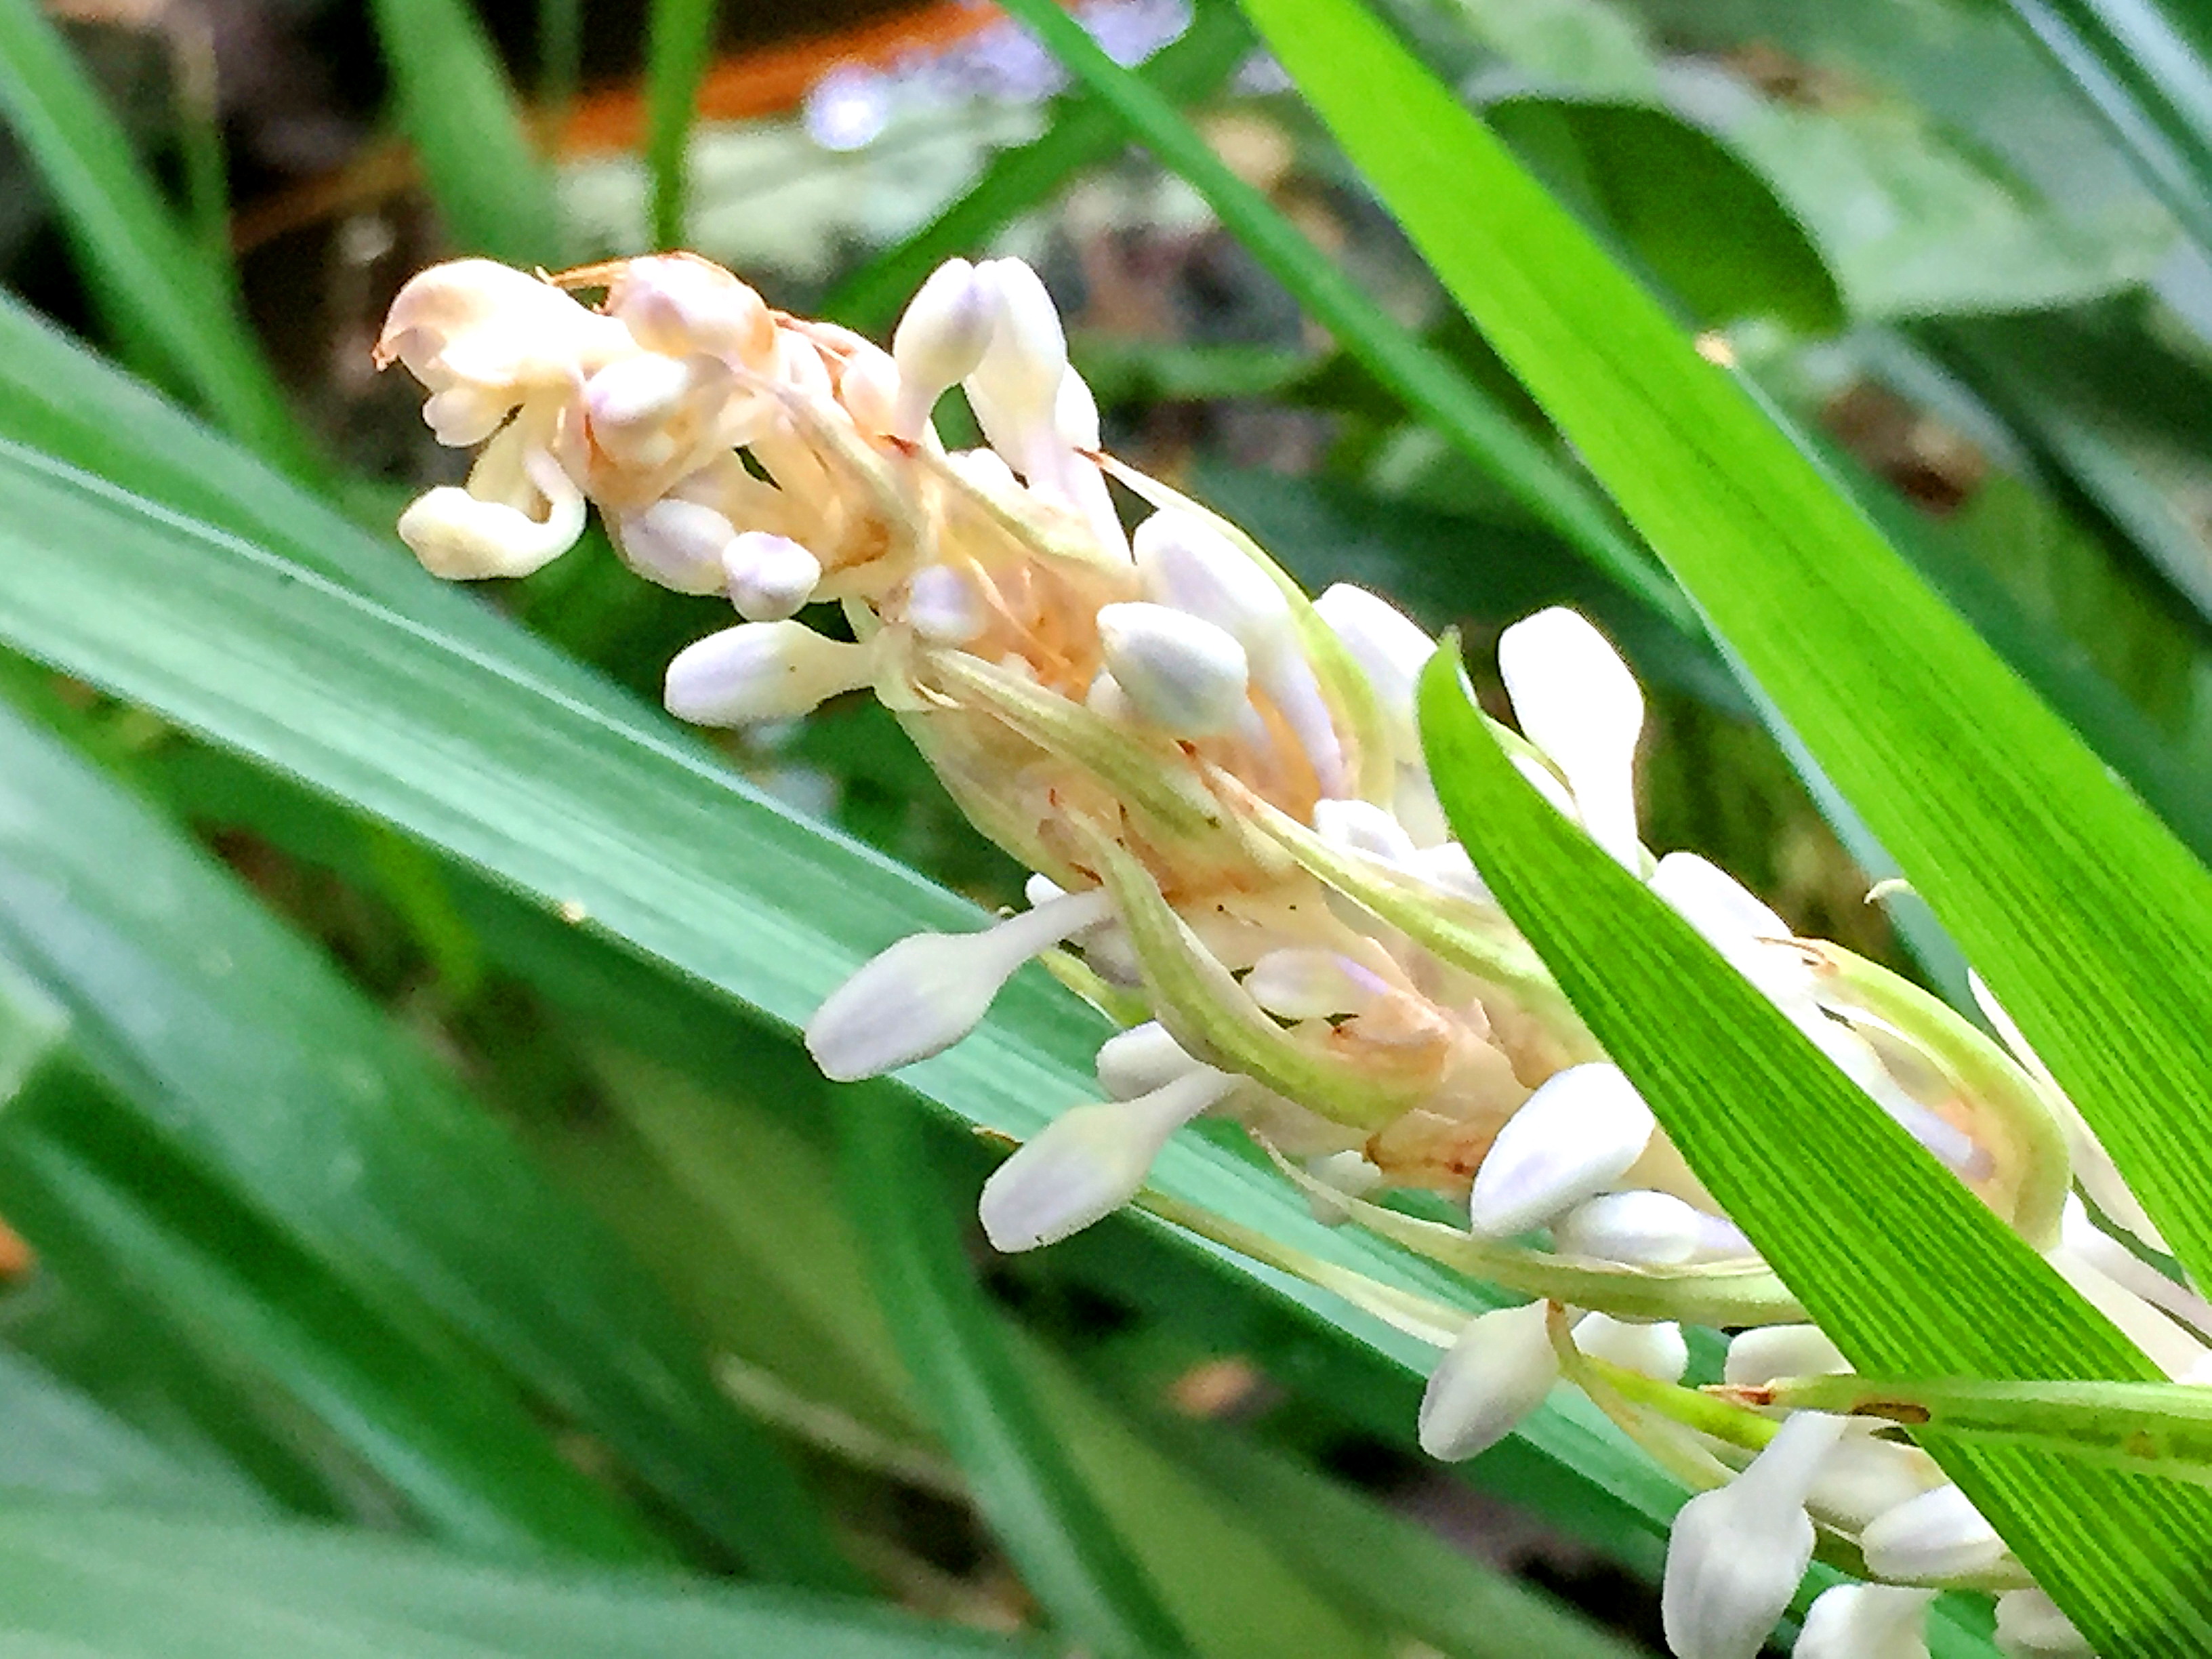
<svg viewBox="0 0 2212 1659">
<path fill-rule="evenodd" d="M 1451 825 L 1690 1168 L 1865 1371 L 2154 1378 L 2157 1369 L 1555 812 L 1484 728 L 1451 653 L 1420 688 Z M 2108 1655 L 2212 1641 L 2212 1493 L 2013 1447 L 1947 1471 Z"/>
</svg>

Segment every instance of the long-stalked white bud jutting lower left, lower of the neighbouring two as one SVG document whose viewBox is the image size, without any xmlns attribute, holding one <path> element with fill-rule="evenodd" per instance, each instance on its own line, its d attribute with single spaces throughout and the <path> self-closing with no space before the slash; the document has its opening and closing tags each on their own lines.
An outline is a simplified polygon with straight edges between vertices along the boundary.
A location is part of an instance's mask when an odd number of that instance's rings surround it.
<svg viewBox="0 0 2212 1659">
<path fill-rule="evenodd" d="M 1237 1086 L 1201 1066 L 1137 1099 L 1073 1106 L 1000 1164 L 975 1214 L 993 1250 L 1060 1243 L 1128 1203 L 1168 1137 Z"/>
</svg>

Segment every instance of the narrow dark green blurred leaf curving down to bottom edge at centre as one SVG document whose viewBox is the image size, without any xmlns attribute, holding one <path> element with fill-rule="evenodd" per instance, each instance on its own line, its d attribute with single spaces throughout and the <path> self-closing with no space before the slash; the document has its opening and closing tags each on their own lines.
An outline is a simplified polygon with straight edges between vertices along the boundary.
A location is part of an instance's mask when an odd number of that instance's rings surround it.
<svg viewBox="0 0 2212 1659">
<path fill-rule="evenodd" d="M 841 1091 L 854 1228 L 876 1301 L 975 1502 L 1053 1624 L 1110 1659 L 1188 1655 L 1022 1374 L 962 1252 L 920 1115 L 880 1084 Z"/>
</svg>

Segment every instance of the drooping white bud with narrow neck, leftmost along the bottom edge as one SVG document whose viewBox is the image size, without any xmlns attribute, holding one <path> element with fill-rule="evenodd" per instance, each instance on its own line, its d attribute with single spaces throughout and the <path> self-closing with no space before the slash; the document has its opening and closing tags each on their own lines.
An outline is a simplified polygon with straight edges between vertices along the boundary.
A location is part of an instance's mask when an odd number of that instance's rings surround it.
<svg viewBox="0 0 2212 1659">
<path fill-rule="evenodd" d="M 1812 1564 L 1805 1493 L 1843 1427 L 1798 1411 L 1750 1469 L 1674 1515 L 1659 1617 L 1677 1659 L 1754 1659 L 1765 1646 Z"/>
</svg>

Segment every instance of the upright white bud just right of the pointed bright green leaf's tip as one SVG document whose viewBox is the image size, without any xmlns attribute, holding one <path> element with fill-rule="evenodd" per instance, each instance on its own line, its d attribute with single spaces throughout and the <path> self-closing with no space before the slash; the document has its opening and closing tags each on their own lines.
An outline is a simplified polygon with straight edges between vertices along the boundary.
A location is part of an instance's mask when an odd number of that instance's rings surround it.
<svg viewBox="0 0 2212 1659">
<path fill-rule="evenodd" d="M 1498 639 L 1498 672 L 1522 734 L 1566 776 L 1590 838 L 1635 874 L 1635 763 L 1644 690 L 1628 664 L 1573 611 L 1551 606 Z"/>
</svg>

